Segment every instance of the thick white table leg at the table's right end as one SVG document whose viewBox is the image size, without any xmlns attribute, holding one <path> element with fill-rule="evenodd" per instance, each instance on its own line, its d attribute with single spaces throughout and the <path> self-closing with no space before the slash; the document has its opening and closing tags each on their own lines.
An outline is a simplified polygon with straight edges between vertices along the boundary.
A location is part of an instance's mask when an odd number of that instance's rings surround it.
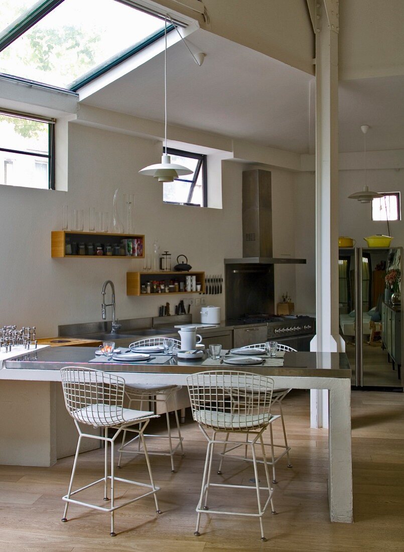
<svg viewBox="0 0 404 552">
<path fill-rule="evenodd" d="M 328 502 L 331 521 L 352 523 L 350 380 L 336 379 L 329 392 Z"/>
</svg>

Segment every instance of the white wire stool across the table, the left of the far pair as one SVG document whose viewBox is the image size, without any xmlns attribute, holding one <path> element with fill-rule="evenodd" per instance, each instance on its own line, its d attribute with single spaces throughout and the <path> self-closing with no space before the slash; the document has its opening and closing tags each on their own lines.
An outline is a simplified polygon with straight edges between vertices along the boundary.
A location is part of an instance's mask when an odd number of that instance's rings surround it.
<svg viewBox="0 0 404 552">
<path fill-rule="evenodd" d="M 129 348 L 134 347 L 148 347 L 153 345 L 161 345 L 163 343 L 163 337 L 150 337 L 146 339 L 141 339 L 140 341 L 135 341 L 129 345 Z M 174 341 L 174 348 L 180 349 L 181 343 L 179 339 L 173 339 Z M 177 452 L 177 450 L 180 448 L 181 455 L 184 456 L 184 448 L 183 448 L 183 437 L 181 436 L 181 431 L 179 428 L 179 420 L 178 420 L 178 412 L 177 412 L 177 401 L 176 401 L 176 394 L 177 391 L 179 391 L 181 388 L 180 385 L 152 385 L 152 384 L 126 384 L 126 392 L 129 396 L 129 408 L 132 406 L 134 401 L 140 402 L 140 408 L 143 407 L 143 402 L 147 402 L 148 404 L 152 403 L 153 405 L 157 405 L 159 403 L 164 404 L 165 410 L 166 410 L 166 420 L 167 420 L 167 436 L 165 435 L 152 435 L 152 434 L 145 434 L 144 437 L 154 437 L 154 438 L 160 438 L 160 439 L 168 439 L 168 452 L 160 451 L 160 450 L 149 450 L 149 455 L 159 455 L 159 456 L 169 456 L 171 459 L 171 472 L 174 474 L 176 473 L 176 470 L 174 469 L 174 454 Z M 177 435 L 172 435 L 171 432 L 171 424 L 169 420 L 169 402 L 173 402 L 174 404 L 174 416 L 176 418 L 176 424 L 177 424 Z M 178 440 L 178 443 L 176 446 L 173 446 L 173 440 Z M 137 448 L 130 447 L 130 445 L 136 443 L 137 441 Z M 141 450 L 141 440 L 139 436 L 134 437 L 133 439 L 126 442 L 126 432 L 124 431 L 123 438 L 122 438 L 122 444 L 121 448 L 119 449 L 119 459 L 118 459 L 118 468 L 121 467 L 121 458 L 122 454 L 142 454 L 143 451 Z"/>
</svg>

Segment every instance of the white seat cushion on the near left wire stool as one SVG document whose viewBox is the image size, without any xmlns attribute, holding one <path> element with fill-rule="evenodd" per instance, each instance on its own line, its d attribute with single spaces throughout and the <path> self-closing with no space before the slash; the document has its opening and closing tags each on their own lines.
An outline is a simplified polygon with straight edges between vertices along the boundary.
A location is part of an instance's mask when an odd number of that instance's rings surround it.
<svg viewBox="0 0 404 552">
<path fill-rule="evenodd" d="M 135 422 L 143 418 L 155 417 L 154 412 L 146 410 L 131 410 L 131 408 L 120 408 L 115 405 L 97 403 L 80 408 L 73 412 L 73 417 L 78 422 L 86 423 L 88 426 L 109 427 L 119 426 L 127 422 Z"/>
</svg>

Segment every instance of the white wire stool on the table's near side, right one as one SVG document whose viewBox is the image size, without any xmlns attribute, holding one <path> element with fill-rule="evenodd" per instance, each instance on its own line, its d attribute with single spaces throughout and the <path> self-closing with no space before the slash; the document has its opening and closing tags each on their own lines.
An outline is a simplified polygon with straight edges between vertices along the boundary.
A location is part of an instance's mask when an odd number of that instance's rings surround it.
<svg viewBox="0 0 404 552">
<path fill-rule="evenodd" d="M 273 489 L 270 486 L 270 477 L 262 434 L 268 424 L 272 423 L 273 420 L 273 416 L 270 413 L 270 405 L 274 380 L 266 376 L 237 371 L 206 371 L 189 375 L 187 377 L 187 383 L 193 418 L 198 422 L 201 432 L 208 440 L 200 498 L 198 506 L 196 506 L 198 517 L 196 519 L 194 535 L 197 537 L 200 535 L 199 526 L 201 513 L 217 513 L 227 514 L 229 516 L 258 517 L 261 527 L 261 540 L 267 540 L 264 537 L 262 517 L 269 503 L 272 513 L 275 513 L 275 511 L 272 502 Z M 211 436 L 208 431 L 212 432 Z M 225 433 L 226 437 L 220 439 L 217 437 L 218 433 Z M 214 446 L 215 444 L 226 445 L 228 436 L 231 433 L 246 435 L 246 440 L 240 442 L 238 446 L 251 445 L 255 482 L 253 486 L 211 482 Z M 237 440 L 232 440 L 231 443 L 235 444 Z M 267 486 L 265 487 L 259 486 L 255 452 L 256 443 L 261 444 L 267 480 Z M 209 509 L 208 493 L 210 487 L 254 489 L 257 493 L 258 513 Z M 263 506 L 261 491 L 268 492 L 267 500 Z"/>
</svg>

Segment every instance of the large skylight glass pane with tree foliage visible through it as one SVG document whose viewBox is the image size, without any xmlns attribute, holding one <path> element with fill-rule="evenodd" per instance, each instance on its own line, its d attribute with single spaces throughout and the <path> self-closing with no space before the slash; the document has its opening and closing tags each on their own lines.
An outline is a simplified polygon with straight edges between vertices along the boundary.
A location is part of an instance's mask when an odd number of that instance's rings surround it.
<svg viewBox="0 0 404 552">
<path fill-rule="evenodd" d="M 115 0 L 65 0 L 0 52 L 0 72 L 70 88 L 164 21 Z"/>
</svg>

